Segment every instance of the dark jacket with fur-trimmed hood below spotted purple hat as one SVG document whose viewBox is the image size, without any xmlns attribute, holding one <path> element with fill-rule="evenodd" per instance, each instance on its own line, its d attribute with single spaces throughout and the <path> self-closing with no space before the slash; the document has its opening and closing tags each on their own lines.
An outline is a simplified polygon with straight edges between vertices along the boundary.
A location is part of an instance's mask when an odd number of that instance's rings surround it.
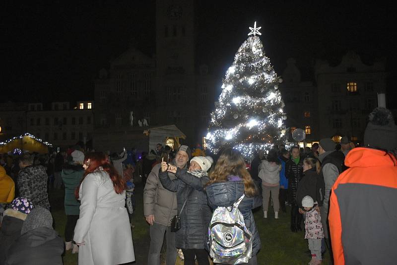
<svg viewBox="0 0 397 265">
<path fill-rule="evenodd" d="M 21 235 L 25 213 L 13 209 L 6 209 L 0 230 L 0 265 L 4 265 L 9 246 Z"/>
</svg>

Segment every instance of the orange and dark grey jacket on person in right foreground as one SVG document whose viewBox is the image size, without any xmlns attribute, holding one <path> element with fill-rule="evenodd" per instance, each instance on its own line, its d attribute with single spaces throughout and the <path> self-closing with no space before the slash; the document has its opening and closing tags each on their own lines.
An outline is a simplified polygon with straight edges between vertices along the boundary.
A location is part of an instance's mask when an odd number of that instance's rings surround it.
<svg viewBox="0 0 397 265">
<path fill-rule="evenodd" d="M 392 154 L 354 148 L 349 167 L 334 183 L 330 234 L 335 265 L 395 264 L 397 160 Z"/>
</svg>

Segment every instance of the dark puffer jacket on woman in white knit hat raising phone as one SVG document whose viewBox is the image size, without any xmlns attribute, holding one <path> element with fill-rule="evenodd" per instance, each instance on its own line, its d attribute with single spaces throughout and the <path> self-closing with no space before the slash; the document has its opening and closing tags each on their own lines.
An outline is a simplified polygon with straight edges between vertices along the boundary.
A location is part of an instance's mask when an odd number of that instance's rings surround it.
<svg viewBox="0 0 397 265">
<path fill-rule="evenodd" d="M 180 168 L 175 176 L 177 179 L 171 180 L 168 177 L 168 172 L 159 172 L 158 175 L 164 188 L 171 192 L 177 192 L 178 214 L 188 198 L 180 216 L 181 229 L 176 232 L 175 247 L 204 249 L 211 220 L 211 210 L 204 192 L 204 185 L 209 178 L 207 176 L 196 177 L 187 173 L 186 169 Z"/>
</svg>

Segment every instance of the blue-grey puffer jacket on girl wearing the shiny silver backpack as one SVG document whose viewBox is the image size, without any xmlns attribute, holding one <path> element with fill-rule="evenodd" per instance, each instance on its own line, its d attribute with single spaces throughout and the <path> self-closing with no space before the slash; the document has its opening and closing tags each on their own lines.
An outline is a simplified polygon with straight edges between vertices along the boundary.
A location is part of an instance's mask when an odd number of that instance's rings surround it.
<svg viewBox="0 0 397 265">
<path fill-rule="evenodd" d="M 228 207 L 236 202 L 244 194 L 244 183 L 240 177 L 228 176 L 229 181 L 212 183 L 206 188 L 208 205 L 211 208 L 218 206 Z M 244 197 L 240 202 L 239 210 L 244 216 L 245 225 L 252 233 L 252 254 L 256 255 L 261 249 L 261 239 L 255 224 L 252 209 L 262 205 L 259 196 L 255 198 Z"/>
</svg>

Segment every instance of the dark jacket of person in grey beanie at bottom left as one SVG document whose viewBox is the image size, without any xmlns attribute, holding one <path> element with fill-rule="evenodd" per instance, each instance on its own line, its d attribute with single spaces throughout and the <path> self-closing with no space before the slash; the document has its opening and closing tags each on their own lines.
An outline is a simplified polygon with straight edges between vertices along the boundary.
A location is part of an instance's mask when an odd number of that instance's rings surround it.
<svg viewBox="0 0 397 265">
<path fill-rule="evenodd" d="M 58 232 L 38 227 L 22 234 L 10 246 L 5 265 L 62 265 L 64 248 Z"/>
</svg>

